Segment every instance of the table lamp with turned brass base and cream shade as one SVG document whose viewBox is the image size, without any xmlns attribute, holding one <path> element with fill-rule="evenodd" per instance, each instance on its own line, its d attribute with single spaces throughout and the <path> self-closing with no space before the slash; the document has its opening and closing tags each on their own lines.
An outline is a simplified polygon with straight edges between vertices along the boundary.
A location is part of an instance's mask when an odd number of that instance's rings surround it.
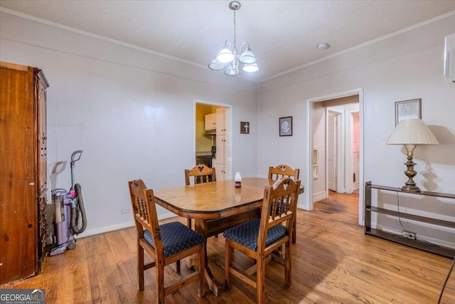
<svg viewBox="0 0 455 304">
<path fill-rule="evenodd" d="M 413 179 L 417 172 L 414 171 L 416 163 L 412 162 L 412 156 L 417 145 L 439 145 L 432 131 L 419 118 L 401 120 L 388 138 L 387 145 L 405 145 L 407 152 L 407 162 L 405 162 L 407 170 L 405 174 L 408 180 L 401 189 L 403 192 L 420 192 Z"/>
</svg>

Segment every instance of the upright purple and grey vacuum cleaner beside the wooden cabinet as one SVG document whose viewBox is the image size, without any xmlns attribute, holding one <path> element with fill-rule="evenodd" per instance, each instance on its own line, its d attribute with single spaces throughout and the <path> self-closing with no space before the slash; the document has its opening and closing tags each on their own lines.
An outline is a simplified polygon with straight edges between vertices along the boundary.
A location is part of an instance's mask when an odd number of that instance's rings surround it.
<svg viewBox="0 0 455 304">
<path fill-rule="evenodd" d="M 77 150 L 71 155 L 71 189 L 58 188 L 51 190 L 55 206 L 54 243 L 50 256 L 57 256 L 76 247 L 75 235 L 85 231 L 87 216 L 85 214 L 84 200 L 80 184 L 75 184 L 75 162 L 80 159 L 82 150 Z"/>
</svg>

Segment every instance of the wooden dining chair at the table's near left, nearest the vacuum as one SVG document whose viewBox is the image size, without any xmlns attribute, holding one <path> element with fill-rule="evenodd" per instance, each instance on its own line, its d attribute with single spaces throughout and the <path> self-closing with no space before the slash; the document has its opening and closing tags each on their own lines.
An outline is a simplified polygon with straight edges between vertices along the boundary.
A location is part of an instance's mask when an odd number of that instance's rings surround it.
<svg viewBox="0 0 455 304">
<path fill-rule="evenodd" d="M 198 295 L 202 297 L 205 294 L 205 238 L 178 221 L 159 225 L 154 191 L 146 189 L 146 185 L 141 179 L 128 182 L 128 185 L 137 230 L 139 290 L 144 290 L 144 271 L 155 267 L 156 301 L 158 303 L 164 303 L 166 295 L 198 280 Z M 144 251 L 154 261 L 144 263 Z M 180 274 L 180 260 L 194 254 L 197 254 L 199 258 L 198 270 L 164 286 L 164 268 L 176 262 L 176 271 Z"/>
</svg>

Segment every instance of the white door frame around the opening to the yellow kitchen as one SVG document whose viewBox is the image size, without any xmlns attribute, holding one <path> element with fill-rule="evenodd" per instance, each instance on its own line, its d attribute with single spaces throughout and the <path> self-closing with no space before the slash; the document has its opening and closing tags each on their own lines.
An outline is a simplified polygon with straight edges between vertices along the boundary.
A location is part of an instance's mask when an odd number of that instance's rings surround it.
<svg viewBox="0 0 455 304">
<path fill-rule="evenodd" d="M 196 105 L 210 105 L 213 107 L 226 109 L 226 142 L 225 142 L 225 159 L 226 159 L 226 179 L 232 179 L 232 105 L 227 103 L 214 103 L 213 101 L 193 99 L 193 159 L 196 165 Z"/>
</svg>

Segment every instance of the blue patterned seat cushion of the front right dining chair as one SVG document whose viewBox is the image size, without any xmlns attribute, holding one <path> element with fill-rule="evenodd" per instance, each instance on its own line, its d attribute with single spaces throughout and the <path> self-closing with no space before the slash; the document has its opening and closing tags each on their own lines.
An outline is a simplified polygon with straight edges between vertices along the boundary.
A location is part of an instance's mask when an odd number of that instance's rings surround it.
<svg viewBox="0 0 455 304">
<path fill-rule="evenodd" d="M 240 243 L 240 245 L 257 251 L 257 235 L 259 234 L 259 225 L 261 219 L 254 219 L 246 223 L 237 225 L 223 232 L 226 239 Z M 283 225 L 273 226 L 267 231 L 265 246 L 269 246 L 274 241 L 282 238 L 286 234 L 286 227 Z"/>
</svg>

